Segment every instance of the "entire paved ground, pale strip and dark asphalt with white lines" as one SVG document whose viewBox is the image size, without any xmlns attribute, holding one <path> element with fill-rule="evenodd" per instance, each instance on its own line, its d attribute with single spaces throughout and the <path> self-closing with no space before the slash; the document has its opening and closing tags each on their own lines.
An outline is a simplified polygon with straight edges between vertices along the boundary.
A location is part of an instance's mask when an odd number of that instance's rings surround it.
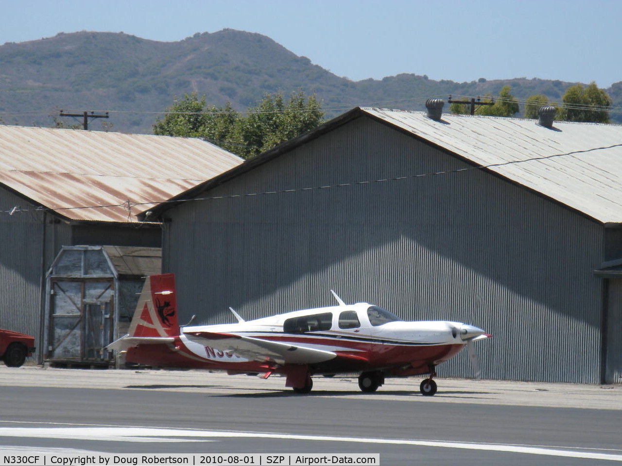
<svg viewBox="0 0 622 466">
<path fill-rule="evenodd" d="M 622 462 L 622 387 L 0 367 L 2 452 L 369 453 L 383 465 Z M 13 454 L 13 453 L 11 453 Z M 605 463 L 606 464 L 606 463 Z M 610 464 L 610 463 L 609 463 Z"/>
</svg>

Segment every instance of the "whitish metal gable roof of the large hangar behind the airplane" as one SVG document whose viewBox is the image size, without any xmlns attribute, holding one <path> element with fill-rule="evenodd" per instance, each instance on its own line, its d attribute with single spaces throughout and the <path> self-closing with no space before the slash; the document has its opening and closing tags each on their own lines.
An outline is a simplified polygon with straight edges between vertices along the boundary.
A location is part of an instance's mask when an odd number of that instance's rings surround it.
<svg viewBox="0 0 622 466">
<path fill-rule="evenodd" d="M 598 222 L 622 222 L 620 125 L 555 122 L 551 129 L 532 119 L 447 114 L 435 121 L 425 112 L 376 108 L 355 108 L 171 201 L 196 197 L 358 117 L 383 122 Z M 343 180 L 356 181 L 364 180 Z M 160 204 L 151 210 L 159 214 L 174 205 Z"/>
</svg>

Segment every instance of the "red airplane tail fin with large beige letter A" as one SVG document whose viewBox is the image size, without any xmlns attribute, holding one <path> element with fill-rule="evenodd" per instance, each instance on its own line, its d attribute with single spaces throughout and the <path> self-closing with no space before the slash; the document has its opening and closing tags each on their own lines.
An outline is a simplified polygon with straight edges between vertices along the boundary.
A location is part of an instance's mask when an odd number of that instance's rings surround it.
<svg viewBox="0 0 622 466">
<path fill-rule="evenodd" d="M 145 279 L 141 297 L 129 326 L 131 337 L 179 336 L 175 275 L 164 273 Z"/>
</svg>

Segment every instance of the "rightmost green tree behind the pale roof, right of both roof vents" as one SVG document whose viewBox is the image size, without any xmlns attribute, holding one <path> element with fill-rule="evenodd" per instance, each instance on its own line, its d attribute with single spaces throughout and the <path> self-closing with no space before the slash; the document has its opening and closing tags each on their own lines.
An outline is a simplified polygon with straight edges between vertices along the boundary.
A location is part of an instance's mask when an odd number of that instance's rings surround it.
<svg viewBox="0 0 622 466">
<path fill-rule="evenodd" d="M 587 88 L 570 86 L 562 97 L 564 106 L 557 112 L 562 121 L 608 123 L 611 98 L 592 81 Z"/>
</svg>

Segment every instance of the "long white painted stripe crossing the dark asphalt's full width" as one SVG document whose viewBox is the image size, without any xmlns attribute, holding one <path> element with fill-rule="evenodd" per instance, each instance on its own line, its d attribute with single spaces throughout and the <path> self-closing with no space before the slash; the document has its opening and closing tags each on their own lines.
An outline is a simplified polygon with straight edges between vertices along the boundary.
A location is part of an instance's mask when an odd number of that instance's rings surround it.
<svg viewBox="0 0 622 466">
<path fill-rule="evenodd" d="M 622 461 L 622 454 L 598 453 L 593 450 L 561 449 L 560 447 L 447 442 L 435 440 L 374 439 L 366 437 L 305 436 L 271 434 L 266 432 L 202 431 L 195 429 L 166 429 L 159 427 L 0 427 L 0 437 L 37 437 L 121 442 L 208 442 L 214 438 L 287 439 L 319 442 L 349 442 L 385 445 L 414 445 L 464 450 L 522 453 L 569 458 Z M 181 437 L 186 437 L 185 439 Z M 198 440 L 200 439 L 200 440 Z"/>
</svg>

